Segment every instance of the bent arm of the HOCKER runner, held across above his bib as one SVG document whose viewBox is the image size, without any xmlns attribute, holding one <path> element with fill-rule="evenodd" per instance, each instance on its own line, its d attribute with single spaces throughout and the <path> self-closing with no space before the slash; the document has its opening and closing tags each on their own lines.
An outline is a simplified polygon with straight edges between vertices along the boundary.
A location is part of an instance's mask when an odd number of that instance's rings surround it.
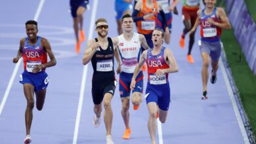
<svg viewBox="0 0 256 144">
<path fill-rule="evenodd" d="M 159 77 L 165 73 L 177 73 L 179 71 L 177 62 L 173 56 L 173 52 L 169 48 L 165 48 L 164 57 L 165 57 L 165 62 L 168 63 L 169 65 L 169 68 L 158 69 L 156 71 L 156 77 Z"/>
</svg>

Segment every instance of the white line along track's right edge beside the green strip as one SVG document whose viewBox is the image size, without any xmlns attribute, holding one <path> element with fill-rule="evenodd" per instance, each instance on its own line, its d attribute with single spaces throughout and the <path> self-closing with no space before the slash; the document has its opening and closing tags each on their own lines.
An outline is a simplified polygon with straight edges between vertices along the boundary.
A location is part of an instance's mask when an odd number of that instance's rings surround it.
<svg viewBox="0 0 256 144">
<path fill-rule="evenodd" d="M 239 127 L 240 127 L 240 130 L 242 132 L 242 136 L 243 136 L 243 139 L 244 139 L 244 143 L 245 144 L 249 144 L 249 139 L 248 139 L 248 136 L 247 136 L 247 133 L 246 133 L 246 130 L 244 128 L 244 123 L 243 123 L 243 120 L 242 120 L 242 117 L 240 115 L 240 112 L 239 112 L 239 109 L 238 109 L 238 105 L 236 103 L 236 99 L 234 98 L 234 93 L 232 91 L 232 88 L 231 88 L 231 85 L 230 85 L 230 82 L 228 80 L 228 75 L 226 73 L 226 69 L 224 68 L 224 64 L 223 64 L 223 59 L 221 58 L 220 61 L 219 61 L 219 65 L 221 67 L 221 72 L 223 73 L 223 78 L 224 78 L 224 81 L 226 83 L 226 88 L 228 89 L 228 94 L 230 96 L 230 99 L 231 99 L 231 102 L 232 102 L 232 106 L 233 106 L 233 109 L 234 109 L 234 112 L 236 114 L 236 119 L 238 120 L 238 124 L 239 124 Z"/>
</svg>

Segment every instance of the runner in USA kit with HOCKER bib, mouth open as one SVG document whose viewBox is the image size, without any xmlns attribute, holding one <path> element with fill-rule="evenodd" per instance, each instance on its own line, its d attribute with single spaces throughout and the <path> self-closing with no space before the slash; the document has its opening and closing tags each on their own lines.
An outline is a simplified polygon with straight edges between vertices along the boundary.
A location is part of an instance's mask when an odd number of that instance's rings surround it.
<svg viewBox="0 0 256 144">
<path fill-rule="evenodd" d="M 142 65 L 146 62 L 148 66 L 148 84 L 145 97 L 149 113 L 148 132 L 150 133 L 152 144 L 156 144 L 156 114 L 159 113 L 160 122 L 164 123 L 167 119 L 171 99 L 168 74 L 176 73 L 179 68 L 173 52 L 169 48 L 162 46 L 164 32 L 161 29 L 153 31 L 152 41 L 154 48 L 144 50 L 140 62 L 135 68 L 131 89 L 135 88 L 135 78 L 139 74 Z"/>
</svg>

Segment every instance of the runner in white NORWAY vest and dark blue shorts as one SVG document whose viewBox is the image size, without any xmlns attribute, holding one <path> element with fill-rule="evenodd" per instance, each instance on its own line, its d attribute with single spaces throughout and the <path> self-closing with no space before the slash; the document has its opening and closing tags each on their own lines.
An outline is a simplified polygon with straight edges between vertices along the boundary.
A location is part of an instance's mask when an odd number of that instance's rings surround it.
<svg viewBox="0 0 256 144">
<path fill-rule="evenodd" d="M 121 115 L 123 117 L 123 122 L 125 123 L 125 133 L 123 134 L 123 139 L 129 139 L 131 134 L 131 128 L 129 126 L 131 78 L 133 77 L 133 72 L 137 63 L 139 62 L 141 54 L 140 45 L 144 49 L 148 49 L 149 46 L 146 43 L 144 35 L 133 32 L 133 18 L 130 14 L 125 14 L 121 18 L 121 22 L 123 34 L 114 38 L 113 43 L 118 47 L 122 62 L 121 73 L 119 75 L 119 92 L 122 102 Z M 142 92 L 143 73 L 140 71 L 136 78 L 136 86 L 131 97 L 134 110 L 139 109 L 139 105 L 142 101 Z"/>
</svg>

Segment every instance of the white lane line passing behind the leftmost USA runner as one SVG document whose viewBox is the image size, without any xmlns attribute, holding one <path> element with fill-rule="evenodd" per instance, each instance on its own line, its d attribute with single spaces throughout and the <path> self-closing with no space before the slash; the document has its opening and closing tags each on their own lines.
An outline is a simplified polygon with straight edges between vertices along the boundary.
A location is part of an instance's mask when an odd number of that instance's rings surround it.
<svg viewBox="0 0 256 144">
<path fill-rule="evenodd" d="M 43 4 L 45 3 L 45 0 L 41 0 L 40 3 L 39 3 L 39 6 L 37 7 L 37 11 L 35 13 L 35 16 L 33 18 L 33 20 L 37 21 L 38 20 L 38 17 L 39 17 L 39 14 L 41 13 L 41 10 L 42 10 L 42 7 L 43 7 Z M 15 67 L 14 67 L 14 70 L 12 72 L 12 76 L 11 76 L 11 79 L 8 83 L 8 86 L 7 86 L 7 89 L 5 90 L 5 95 L 3 96 L 3 99 L 1 101 L 1 105 L 0 105 L 0 116 L 1 116 L 1 113 L 3 111 L 3 107 L 5 106 L 5 103 L 7 101 L 7 98 L 9 96 L 9 93 L 10 93 L 10 90 L 11 90 L 11 87 L 12 87 L 12 84 L 13 84 L 13 81 L 14 81 L 14 78 L 16 77 L 17 75 L 17 72 L 18 72 L 18 68 L 20 67 L 20 63 L 22 62 L 22 58 L 20 58 L 20 60 L 18 61 L 18 63 L 16 63 Z"/>
</svg>

